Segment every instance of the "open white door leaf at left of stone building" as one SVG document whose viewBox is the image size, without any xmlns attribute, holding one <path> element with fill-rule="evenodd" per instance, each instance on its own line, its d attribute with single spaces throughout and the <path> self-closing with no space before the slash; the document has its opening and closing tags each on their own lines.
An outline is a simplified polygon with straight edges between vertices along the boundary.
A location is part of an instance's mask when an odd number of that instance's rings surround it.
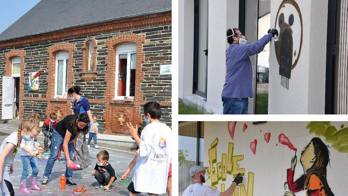
<svg viewBox="0 0 348 196">
<path fill-rule="evenodd" d="M 13 119 L 14 115 L 14 78 L 3 76 L 2 120 Z"/>
</svg>

